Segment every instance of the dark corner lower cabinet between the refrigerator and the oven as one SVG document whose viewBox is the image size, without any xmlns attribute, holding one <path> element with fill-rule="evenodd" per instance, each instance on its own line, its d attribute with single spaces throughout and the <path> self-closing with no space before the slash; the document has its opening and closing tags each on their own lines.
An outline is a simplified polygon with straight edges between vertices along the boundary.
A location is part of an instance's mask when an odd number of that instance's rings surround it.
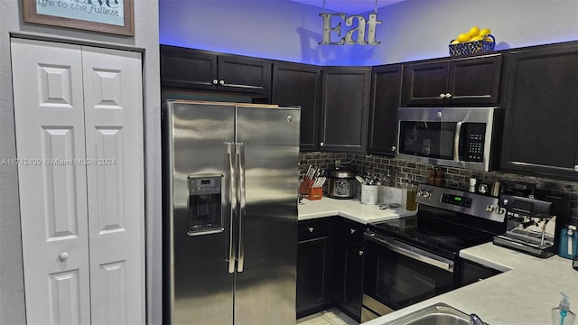
<svg viewBox="0 0 578 325">
<path fill-rule="evenodd" d="M 336 306 L 360 320 L 363 228 L 340 217 L 299 222 L 297 318 Z"/>
</svg>

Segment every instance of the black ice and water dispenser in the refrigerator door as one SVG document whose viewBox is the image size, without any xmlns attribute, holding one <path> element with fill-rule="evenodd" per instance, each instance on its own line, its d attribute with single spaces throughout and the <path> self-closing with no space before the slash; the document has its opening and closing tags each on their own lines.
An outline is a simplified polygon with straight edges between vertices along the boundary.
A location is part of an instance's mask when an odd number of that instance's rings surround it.
<svg viewBox="0 0 578 325">
<path fill-rule="evenodd" d="M 188 177 L 187 235 L 207 235 L 224 230 L 221 215 L 222 178 L 221 174 L 197 174 Z"/>
</svg>

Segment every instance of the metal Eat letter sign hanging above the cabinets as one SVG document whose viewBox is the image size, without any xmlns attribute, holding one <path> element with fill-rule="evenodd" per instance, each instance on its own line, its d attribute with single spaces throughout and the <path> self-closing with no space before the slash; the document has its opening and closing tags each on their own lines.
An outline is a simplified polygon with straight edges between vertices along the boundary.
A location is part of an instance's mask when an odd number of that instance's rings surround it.
<svg viewBox="0 0 578 325">
<path fill-rule="evenodd" d="M 380 42 L 376 41 L 376 26 L 378 23 L 383 23 L 378 21 L 378 14 L 369 14 L 368 20 L 360 14 L 353 14 L 349 17 L 346 14 L 319 14 L 323 18 L 323 41 L 319 42 L 320 45 L 343 45 L 343 44 L 360 44 L 360 45 L 377 45 Z M 340 22 L 337 23 L 335 27 L 331 26 L 331 18 L 337 17 Z M 352 27 L 349 31 L 345 32 L 345 36 L 341 37 L 341 23 L 345 22 L 345 25 L 350 27 L 353 26 L 353 22 L 357 20 L 357 27 Z M 367 33 L 366 33 L 367 29 Z M 340 37 L 339 41 L 331 42 L 331 32 L 336 32 L 337 36 Z M 357 32 L 357 39 L 354 39 L 354 34 Z M 367 36 L 367 39 L 366 39 Z"/>
</svg>

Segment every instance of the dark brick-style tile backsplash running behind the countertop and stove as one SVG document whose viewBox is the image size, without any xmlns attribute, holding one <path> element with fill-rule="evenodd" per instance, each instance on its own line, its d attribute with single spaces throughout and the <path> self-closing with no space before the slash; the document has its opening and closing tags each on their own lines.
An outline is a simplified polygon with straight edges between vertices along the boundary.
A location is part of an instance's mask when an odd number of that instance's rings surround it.
<svg viewBox="0 0 578 325">
<path fill-rule="evenodd" d="M 389 158 L 371 154 L 353 153 L 301 153 L 299 157 L 300 176 L 303 177 L 309 165 L 316 165 L 328 171 L 335 168 L 335 161 L 349 164 L 359 175 L 373 170 L 383 176 L 389 175 L 391 186 L 401 187 L 405 181 L 415 180 L 426 182 L 430 164 L 408 162 L 400 159 Z M 578 183 L 573 181 L 558 181 L 531 176 L 523 176 L 504 172 L 473 172 L 461 168 L 435 166 L 443 171 L 443 186 L 467 190 L 471 177 L 479 182 L 489 185 L 493 181 L 523 181 L 535 183 L 536 188 L 545 190 L 546 193 L 571 201 L 571 216 L 573 224 L 578 224 Z"/>
</svg>

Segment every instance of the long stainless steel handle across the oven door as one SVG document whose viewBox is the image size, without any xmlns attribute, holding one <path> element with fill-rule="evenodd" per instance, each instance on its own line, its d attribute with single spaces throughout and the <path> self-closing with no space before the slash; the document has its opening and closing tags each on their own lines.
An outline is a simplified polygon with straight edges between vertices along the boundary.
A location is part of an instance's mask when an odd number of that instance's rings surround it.
<svg viewBox="0 0 578 325">
<path fill-rule="evenodd" d="M 425 255 L 427 253 L 421 249 L 407 246 L 406 244 L 403 244 L 391 237 L 382 237 L 376 233 L 366 233 L 365 237 L 366 239 L 377 243 L 379 246 L 385 246 L 387 249 L 390 249 L 398 254 L 405 255 L 417 261 L 424 262 L 425 264 L 439 267 L 444 271 L 453 273 L 453 262 L 451 260 L 430 254 Z"/>
</svg>

